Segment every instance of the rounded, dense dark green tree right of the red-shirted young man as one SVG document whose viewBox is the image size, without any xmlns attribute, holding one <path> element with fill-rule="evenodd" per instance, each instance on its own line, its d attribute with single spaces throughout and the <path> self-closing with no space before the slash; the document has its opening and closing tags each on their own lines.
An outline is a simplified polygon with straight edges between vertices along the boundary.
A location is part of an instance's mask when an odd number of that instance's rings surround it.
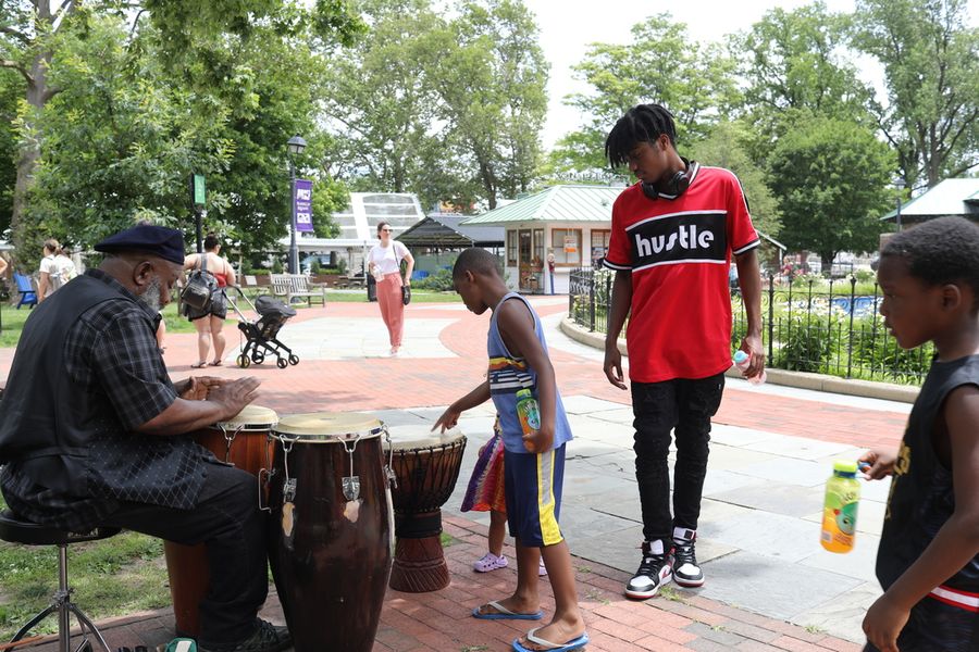
<svg viewBox="0 0 979 652">
<path fill-rule="evenodd" d="M 796 127 L 768 158 L 782 211 L 780 239 L 817 252 L 829 269 L 840 251 L 877 248 L 894 155 L 866 125 L 805 111 L 794 117 Z"/>
</svg>

